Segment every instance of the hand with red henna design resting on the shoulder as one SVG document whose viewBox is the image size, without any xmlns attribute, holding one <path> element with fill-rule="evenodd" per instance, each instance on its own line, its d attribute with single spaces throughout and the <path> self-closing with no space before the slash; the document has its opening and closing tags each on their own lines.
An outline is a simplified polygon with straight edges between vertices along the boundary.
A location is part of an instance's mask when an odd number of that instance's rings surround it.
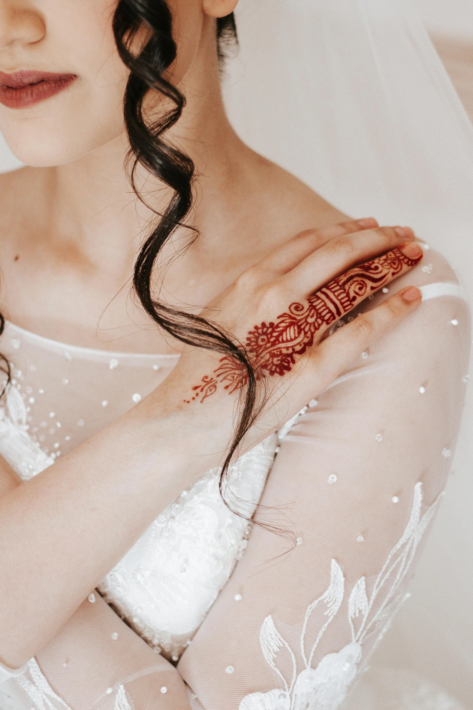
<svg viewBox="0 0 473 710">
<path fill-rule="evenodd" d="M 405 288 L 328 337 L 335 321 L 416 266 L 422 250 L 414 238 L 409 228 L 378 227 L 375 220 L 305 231 L 244 271 L 208 305 L 206 317 L 243 344 L 266 386 L 271 406 L 258 424 L 264 435 L 418 307 L 420 291 Z M 172 381 L 174 405 L 195 408 L 206 427 L 222 417 L 233 420 L 234 397 L 245 388 L 247 373 L 231 356 L 192 350 L 182 356 Z"/>
</svg>

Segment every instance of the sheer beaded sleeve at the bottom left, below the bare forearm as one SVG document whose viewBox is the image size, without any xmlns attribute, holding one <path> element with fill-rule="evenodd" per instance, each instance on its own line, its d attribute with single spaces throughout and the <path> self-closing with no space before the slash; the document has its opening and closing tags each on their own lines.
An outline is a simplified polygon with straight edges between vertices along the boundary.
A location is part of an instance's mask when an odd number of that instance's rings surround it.
<svg viewBox="0 0 473 710">
<path fill-rule="evenodd" d="M 0 692 L 2 710 L 189 710 L 189 702 L 175 667 L 96 592 Z"/>
</svg>

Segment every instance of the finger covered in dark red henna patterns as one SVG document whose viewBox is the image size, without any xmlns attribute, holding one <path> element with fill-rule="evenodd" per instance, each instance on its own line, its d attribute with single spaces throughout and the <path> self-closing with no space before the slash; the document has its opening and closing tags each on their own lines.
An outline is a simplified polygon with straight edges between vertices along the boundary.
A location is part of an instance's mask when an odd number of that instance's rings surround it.
<svg viewBox="0 0 473 710">
<path fill-rule="evenodd" d="M 315 339 L 320 341 L 336 320 L 356 308 L 365 298 L 411 271 L 422 256 L 421 247 L 415 242 L 409 242 L 402 249 L 393 249 L 372 261 L 355 266 L 309 296 L 306 320 L 311 323 Z"/>
</svg>

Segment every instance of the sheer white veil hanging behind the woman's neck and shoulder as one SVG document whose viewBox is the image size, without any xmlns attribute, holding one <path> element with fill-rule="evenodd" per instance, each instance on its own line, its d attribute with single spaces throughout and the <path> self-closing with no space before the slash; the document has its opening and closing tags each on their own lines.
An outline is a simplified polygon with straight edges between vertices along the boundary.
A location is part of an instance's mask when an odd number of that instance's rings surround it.
<svg viewBox="0 0 473 710">
<path fill-rule="evenodd" d="M 408 0 L 240 0 L 226 105 L 243 140 L 346 214 L 409 224 L 473 296 L 473 128 Z M 377 662 L 466 700 L 473 397 L 447 496 Z M 470 697 L 471 700 L 471 697 Z"/>
</svg>

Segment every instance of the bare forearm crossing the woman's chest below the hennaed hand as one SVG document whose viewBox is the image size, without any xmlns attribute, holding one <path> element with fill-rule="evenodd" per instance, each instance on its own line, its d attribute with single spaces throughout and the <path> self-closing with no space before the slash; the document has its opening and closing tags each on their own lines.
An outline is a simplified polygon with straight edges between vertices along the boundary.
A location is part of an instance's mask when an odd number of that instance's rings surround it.
<svg viewBox="0 0 473 710">
<path fill-rule="evenodd" d="M 155 415 L 159 393 L 141 404 L 0 499 L 0 660 L 9 667 L 43 648 L 160 511 L 221 457 L 202 455 L 206 442 L 184 420 Z"/>
</svg>

